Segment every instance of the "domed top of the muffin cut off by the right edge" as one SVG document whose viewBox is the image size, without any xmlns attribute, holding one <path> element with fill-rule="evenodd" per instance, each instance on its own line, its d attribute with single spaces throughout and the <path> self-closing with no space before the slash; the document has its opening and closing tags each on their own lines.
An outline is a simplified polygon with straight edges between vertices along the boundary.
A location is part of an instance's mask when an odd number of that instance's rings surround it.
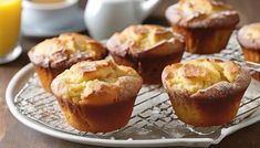
<svg viewBox="0 0 260 148">
<path fill-rule="evenodd" d="M 238 32 L 238 41 L 245 47 L 260 50 L 260 23 L 242 27 Z"/>
</svg>

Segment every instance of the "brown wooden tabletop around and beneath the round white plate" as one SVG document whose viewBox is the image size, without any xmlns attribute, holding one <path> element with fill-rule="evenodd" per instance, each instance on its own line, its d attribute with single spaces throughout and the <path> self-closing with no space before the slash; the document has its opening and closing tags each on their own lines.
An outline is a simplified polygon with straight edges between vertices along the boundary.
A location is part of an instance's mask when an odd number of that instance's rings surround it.
<svg viewBox="0 0 260 148">
<path fill-rule="evenodd" d="M 166 21 L 165 19 L 147 19 L 145 23 L 166 24 Z M 19 123 L 6 106 L 4 93 L 9 81 L 29 63 L 28 50 L 42 40 L 22 36 L 22 55 L 14 62 L 0 65 L 0 148 L 94 148 L 95 146 L 70 142 L 38 133 Z M 210 147 L 260 148 L 260 121 L 226 137 L 219 145 Z"/>
</svg>

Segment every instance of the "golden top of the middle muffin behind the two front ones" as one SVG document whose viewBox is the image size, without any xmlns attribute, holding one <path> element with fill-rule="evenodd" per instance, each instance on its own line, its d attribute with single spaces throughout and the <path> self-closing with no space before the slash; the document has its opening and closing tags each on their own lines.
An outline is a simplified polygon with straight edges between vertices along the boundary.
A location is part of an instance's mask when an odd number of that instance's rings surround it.
<svg viewBox="0 0 260 148">
<path fill-rule="evenodd" d="M 131 25 L 106 43 L 112 54 L 155 57 L 184 50 L 184 39 L 159 25 Z"/>
</svg>

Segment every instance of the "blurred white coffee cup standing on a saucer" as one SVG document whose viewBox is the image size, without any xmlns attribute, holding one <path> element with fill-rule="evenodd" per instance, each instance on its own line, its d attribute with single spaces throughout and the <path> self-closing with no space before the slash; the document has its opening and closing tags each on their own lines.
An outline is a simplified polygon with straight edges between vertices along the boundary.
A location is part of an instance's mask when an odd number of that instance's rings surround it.
<svg viewBox="0 0 260 148">
<path fill-rule="evenodd" d="M 22 28 L 55 31 L 70 27 L 79 13 L 77 1 L 65 0 L 61 3 L 42 4 L 23 0 Z"/>
</svg>

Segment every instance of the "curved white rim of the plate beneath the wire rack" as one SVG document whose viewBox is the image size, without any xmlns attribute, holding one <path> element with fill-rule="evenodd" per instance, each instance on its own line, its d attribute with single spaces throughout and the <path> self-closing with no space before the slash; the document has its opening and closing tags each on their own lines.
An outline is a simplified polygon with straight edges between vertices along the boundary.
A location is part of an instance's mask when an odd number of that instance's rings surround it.
<svg viewBox="0 0 260 148">
<path fill-rule="evenodd" d="M 52 127 L 52 125 L 41 123 L 41 120 L 35 120 L 34 118 L 32 118 L 32 115 L 24 115 L 24 113 L 22 113 L 21 106 L 19 106 L 20 105 L 19 101 L 15 101 L 14 98 L 15 98 L 17 94 L 19 94 L 21 88 L 24 86 L 24 84 L 30 82 L 29 78 L 32 77 L 33 73 L 34 73 L 33 66 L 32 66 L 32 64 L 29 64 L 29 65 L 24 66 L 22 70 L 20 70 L 13 76 L 10 84 L 8 85 L 7 94 L 6 94 L 7 104 L 8 104 L 9 109 L 11 110 L 13 116 L 18 120 L 23 123 L 24 125 L 27 125 L 38 131 L 41 131 L 43 134 L 46 134 L 46 135 L 50 135 L 50 136 L 53 136 L 56 138 L 70 140 L 70 141 L 76 141 L 76 142 L 89 144 L 89 145 L 97 145 L 97 146 L 112 146 L 112 147 L 122 147 L 122 146 L 124 146 L 124 147 L 144 147 L 144 146 L 145 147 L 162 147 L 162 146 L 208 147 L 209 145 L 218 144 L 222 138 L 237 131 L 238 129 L 241 129 L 246 126 L 249 126 L 249 125 L 260 120 L 260 112 L 259 112 L 260 109 L 258 109 L 250 117 L 242 119 L 242 121 L 239 121 L 238 124 L 236 124 L 236 121 L 235 121 L 231 125 L 227 125 L 227 126 L 221 127 L 220 130 L 216 130 L 217 136 L 215 136 L 215 134 L 208 135 L 208 136 L 201 136 L 201 135 L 199 136 L 198 135 L 198 136 L 195 136 L 191 138 L 181 138 L 181 137 L 180 138 L 164 138 L 162 136 L 160 138 L 137 139 L 137 138 L 135 138 L 136 137 L 136 135 L 135 135 L 135 137 L 133 137 L 134 139 L 132 139 L 132 138 L 115 139 L 115 138 L 113 138 L 113 136 L 111 136 L 112 138 L 107 138 L 107 136 L 102 136 L 102 134 L 97 134 L 96 136 L 93 136 L 93 134 L 83 134 L 83 133 L 74 133 L 74 131 L 70 133 L 69 130 L 62 130 L 61 128 Z M 254 86 L 251 85 L 250 89 L 252 89 L 252 87 L 259 88 L 259 86 L 260 86 L 259 82 L 253 81 L 253 83 L 254 83 L 253 84 Z M 32 87 L 34 87 L 34 86 L 32 86 Z M 19 95 L 21 95 L 21 94 L 19 94 Z M 22 95 L 24 95 L 24 94 L 22 94 Z M 45 93 L 45 95 L 48 95 L 48 94 Z M 29 99 L 30 97 L 27 97 L 27 98 Z M 158 97 L 158 99 L 160 99 L 160 98 Z M 54 103 L 54 105 L 55 105 L 55 103 Z M 28 106 L 28 107 L 30 108 L 32 106 Z M 145 106 L 143 106 L 143 107 L 145 107 Z M 23 109 L 25 109 L 25 108 L 23 108 Z M 30 108 L 30 109 L 33 110 L 34 108 Z M 138 110 L 135 110 L 135 112 L 138 113 Z M 136 113 L 133 113 L 133 114 L 136 114 Z M 69 128 L 69 129 L 71 129 L 71 128 Z M 139 129 L 139 130 L 143 130 L 143 129 Z M 119 131 L 117 131 L 117 133 L 119 133 Z M 111 134 L 111 135 L 113 135 L 113 134 Z M 147 135 L 144 134 L 144 137 L 145 136 L 147 136 Z"/>
</svg>

